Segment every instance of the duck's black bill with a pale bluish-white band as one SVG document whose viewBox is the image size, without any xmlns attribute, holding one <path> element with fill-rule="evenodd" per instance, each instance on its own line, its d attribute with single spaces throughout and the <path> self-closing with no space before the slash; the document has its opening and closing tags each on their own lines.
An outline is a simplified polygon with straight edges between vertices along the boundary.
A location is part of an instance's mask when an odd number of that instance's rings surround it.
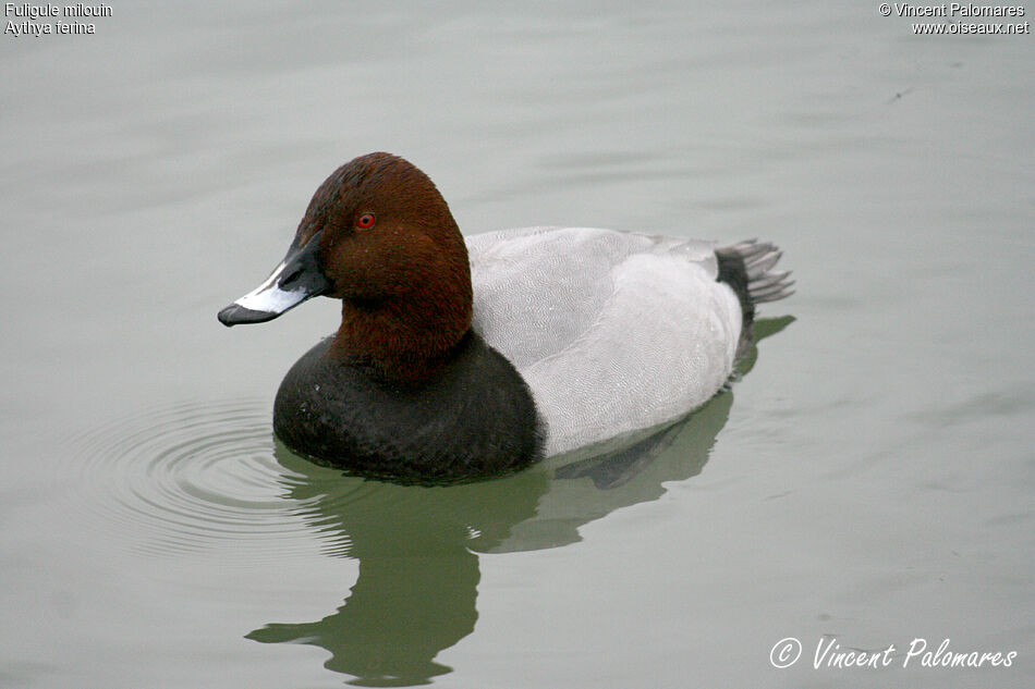
<svg viewBox="0 0 1035 689">
<path fill-rule="evenodd" d="M 266 282 L 219 311 L 219 322 L 227 327 L 265 323 L 327 292 L 330 281 L 317 260 L 319 244 L 317 234 L 305 246 L 292 245 Z"/>
</svg>

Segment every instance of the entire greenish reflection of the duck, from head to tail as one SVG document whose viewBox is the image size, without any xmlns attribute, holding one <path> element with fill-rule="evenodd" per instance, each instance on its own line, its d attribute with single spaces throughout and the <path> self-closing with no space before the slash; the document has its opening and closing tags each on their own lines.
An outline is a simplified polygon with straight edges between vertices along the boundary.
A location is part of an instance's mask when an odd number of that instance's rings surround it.
<svg viewBox="0 0 1035 689">
<path fill-rule="evenodd" d="M 758 323 L 760 334 L 789 322 Z M 768 323 L 768 324 L 767 324 Z M 776 323 L 775 325 L 772 323 Z M 745 367 L 754 361 L 753 353 Z M 742 369 L 746 370 L 746 368 Z M 404 487 L 315 466 L 278 444 L 290 469 L 285 497 L 328 550 L 360 561 L 345 604 L 313 623 L 271 624 L 248 635 L 330 652 L 326 666 L 352 684 L 406 686 L 450 672 L 435 656 L 474 630 L 480 577 L 476 553 L 557 547 L 611 512 L 657 500 L 665 482 L 701 472 L 733 395 L 637 442 L 636 452 L 548 463 L 491 481 Z"/>
</svg>

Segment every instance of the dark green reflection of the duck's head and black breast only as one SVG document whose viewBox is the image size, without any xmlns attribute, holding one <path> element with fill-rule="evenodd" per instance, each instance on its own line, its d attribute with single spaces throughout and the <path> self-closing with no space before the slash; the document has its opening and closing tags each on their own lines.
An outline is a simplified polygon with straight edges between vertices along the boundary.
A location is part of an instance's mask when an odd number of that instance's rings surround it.
<svg viewBox="0 0 1035 689">
<path fill-rule="evenodd" d="M 474 630 L 480 574 L 475 549 L 491 550 L 535 515 L 549 475 L 532 470 L 454 487 L 403 487 L 344 477 L 278 443 L 294 472 L 288 497 L 330 550 L 360 561 L 345 604 L 319 622 L 268 625 L 263 642 L 304 642 L 331 653 L 326 666 L 356 684 L 407 686 L 449 672 L 434 662 Z M 300 478 L 301 477 L 301 478 Z"/>
</svg>

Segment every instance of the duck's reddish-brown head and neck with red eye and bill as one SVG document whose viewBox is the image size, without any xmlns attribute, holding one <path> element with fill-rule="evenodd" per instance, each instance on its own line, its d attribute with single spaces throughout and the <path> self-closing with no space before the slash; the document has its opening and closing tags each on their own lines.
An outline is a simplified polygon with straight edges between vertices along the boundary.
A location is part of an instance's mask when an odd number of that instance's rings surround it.
<svg viewBox="0 0 1035 689">
<path fill-rule="evenodd" d="M 284 259 L 219 320 L 260 323 L 320 295 L 343 303 L 333 347 L 340 356 L 419 360 L 459 342 L 471 327 L 467 251 L 426 174 L 389 153 L 336 170 L 309 201 Z"/>
</svg>

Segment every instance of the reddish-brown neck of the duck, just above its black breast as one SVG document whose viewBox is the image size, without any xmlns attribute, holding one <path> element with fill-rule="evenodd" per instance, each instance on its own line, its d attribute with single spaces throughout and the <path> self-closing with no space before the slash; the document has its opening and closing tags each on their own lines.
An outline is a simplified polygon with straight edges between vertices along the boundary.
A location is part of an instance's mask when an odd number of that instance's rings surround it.
<svg viewBox="0 0 1035 689">
<path fill-rule="evenodd" d="M 328 355 L 400 382 L 434 376 L 471 330 L 470 272 L 456 278 L 391 297 L 343 299 Z"/>
</svg>

